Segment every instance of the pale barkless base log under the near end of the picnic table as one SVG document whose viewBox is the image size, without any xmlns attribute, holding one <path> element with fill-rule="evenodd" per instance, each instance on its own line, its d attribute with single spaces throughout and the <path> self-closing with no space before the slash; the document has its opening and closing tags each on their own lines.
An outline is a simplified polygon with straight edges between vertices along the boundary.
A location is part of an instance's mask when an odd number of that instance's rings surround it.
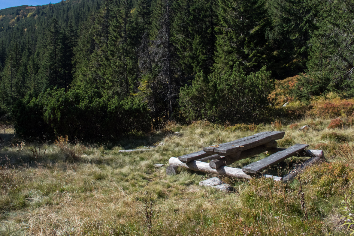
<svg viewBox="0 0 354 236">
<path fill-rule="evenodd" d="M 210 168 L 209 163 L 205 163 L 202 161 L 190 161 L 189 163 L 183 163 L 180 160 L 178 160 L 178 158 L 171 157 L 169 163 L 171 166 L 182 166 L 189 170 L 194 170 L 194 171 L 202 171 L 202 172 L 213 173 L 217 175 L 231 176 L 240 179 L 252 178 L 251 176 L 243 172 L 241 169 L 222 166 L 220 169 L 214 170 Z M 262 175 L 260 177 L 273 178 L 275 181 L 281 181 L 281 177 L 278 176 Z"/>
</svg>

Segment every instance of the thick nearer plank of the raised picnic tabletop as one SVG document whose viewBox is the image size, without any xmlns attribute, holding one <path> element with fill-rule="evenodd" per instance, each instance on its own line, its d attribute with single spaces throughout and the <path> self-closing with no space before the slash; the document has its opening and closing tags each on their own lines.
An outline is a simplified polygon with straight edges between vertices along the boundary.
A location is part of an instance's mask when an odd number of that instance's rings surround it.
<svg viewBox="0 0 354 236">
<path fill-rule="evenodd" d="M 269 143 L 272 140 L 278 140 L 284 137 L 285 132 L 280 131 L 271 131 L 260 136 L 253 137 L 251 139 L 234 143 L 232 145 L 220 145 L 219 147 L 213 149 L 213 152 L 221 156 L 227 156 L 232 153 L 247 150 L 254 148 L 266 143 Z M 203 148 L 204 150 L 204 148 Z"/>
</svg>

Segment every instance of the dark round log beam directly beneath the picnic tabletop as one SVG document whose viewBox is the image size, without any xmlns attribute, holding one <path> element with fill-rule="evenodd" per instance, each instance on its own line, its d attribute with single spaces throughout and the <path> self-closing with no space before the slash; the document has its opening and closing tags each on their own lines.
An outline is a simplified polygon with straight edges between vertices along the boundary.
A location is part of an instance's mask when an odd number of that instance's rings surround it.
<svg viewBox="0 0 354 236">
<path fill-rule="evenodd" d="M 252 157 L 254 155 L 261 154 L 261 153 L 263 153 L 265 151 L 268 151 L 268 150 L 270 150 L 272 148 L 275 148 L 276 146 L 278 146 L 278 143 L 275 140 L 272 140 L 269 143 L 266 143 L 264 145 L 260 145 L 260 146 L 255 147 L 255 148 L 251 148 L 251 149 L 248 149 L 248 150 L 240 151 L 240 152 L 225 156 L 223 158 L 220 158 L 218 160 L 210 161 L 209 166 L 212 169 L 217 169 L 220 166 L 231 165 L 235 161 L 239 161 L 241 159 L 245 159 L 245 158 L 248 158 L 248 157 Z"/>
</svg>

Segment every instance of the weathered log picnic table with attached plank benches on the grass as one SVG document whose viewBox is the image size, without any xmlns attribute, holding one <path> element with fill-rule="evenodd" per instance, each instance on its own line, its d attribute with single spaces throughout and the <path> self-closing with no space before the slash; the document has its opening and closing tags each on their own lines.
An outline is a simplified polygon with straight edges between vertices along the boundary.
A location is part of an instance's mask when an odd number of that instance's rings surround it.
<svg viewBox="0 0 354 236">
<path fill-rule="evenodd" d="M 287 158 L 311 157 L 298 169 L 292 170 L 286 176 L 284 181 L 293 179 L 304 168 L 319 161 L 325 160 L 321 150 L 306 150 L 307 144 L 295 144 L 287 149 L 277 148 L 276 140 L 283 138 L 285 132 L 266 131 L 254 134 L 238 140 L 205 147 L 202 150 L 178 158 L 171 157 L 171 166 L 183 166 L 190 170 L 203 171 L 206 173 L 217 173 L 219 175 L 232 176 L 248 179 L 252 176 L 272 177 L 275 180 L 282 180 L 281 177 L 262 175 L 262 171 L 270 166 L 274 166 Z M 269 151 L 273 153 L 269 157 L 255 161 L 242 169 L 227 167 L 235 161 L 251 157 Z M 205 163 L 210 161 L 210 163 Z"/>
</svg>

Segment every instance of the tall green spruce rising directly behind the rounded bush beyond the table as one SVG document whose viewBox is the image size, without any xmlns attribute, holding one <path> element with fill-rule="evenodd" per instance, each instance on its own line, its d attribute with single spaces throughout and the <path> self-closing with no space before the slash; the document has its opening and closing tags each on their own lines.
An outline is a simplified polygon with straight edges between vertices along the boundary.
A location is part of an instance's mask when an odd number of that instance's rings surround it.
<svg viewBox="0 0 354 236">
<path fill-rule="evenodd" d="M 232 70 L 237 62 L 253 70 L 267 64 L 272 52 L 265 38 L 270 22 L 264 1 L 219 0 L 219 8 L 216 70 Z"/>
</svg>

